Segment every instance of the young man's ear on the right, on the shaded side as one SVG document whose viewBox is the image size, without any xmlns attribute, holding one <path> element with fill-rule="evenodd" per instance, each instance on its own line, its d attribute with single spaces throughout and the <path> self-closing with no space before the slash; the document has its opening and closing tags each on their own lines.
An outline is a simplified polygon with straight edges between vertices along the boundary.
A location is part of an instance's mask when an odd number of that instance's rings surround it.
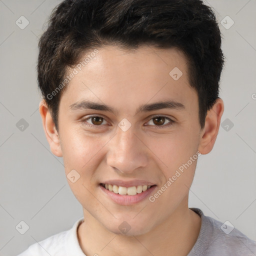
<svg viewBox="0 0 256 256">
<path fill-rule="evenodd" d="M 215 143 L 220 119 L 224 111 L 224 103 L 221 98 L 217 98 L 215 104 L 207 111 L 205 125 L 201 131 L 198 150 L 201 154 L 207 154 L 213 148 Z"/>
</svg>

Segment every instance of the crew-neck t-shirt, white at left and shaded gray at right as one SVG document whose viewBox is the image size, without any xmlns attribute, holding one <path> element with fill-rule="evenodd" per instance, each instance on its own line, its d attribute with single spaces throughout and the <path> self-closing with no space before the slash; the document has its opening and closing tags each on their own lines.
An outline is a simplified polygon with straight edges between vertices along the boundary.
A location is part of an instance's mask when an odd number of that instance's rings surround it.
<svg viewBox="0 0 256 256">
<path fill-rule="evenodd" d="M 256 241 L 236 228 L 231 230 L 226 224 L 205 216 L 198 208 L 190 209 L 201 217 L 201 228 L 187 256 L 256 256 Z M 71 229 L 34 243 L 17 256 L 85 256 L 77 238 L 77 227 L 82 221 L 83 218 L 78 219 Z"/>
</svg>

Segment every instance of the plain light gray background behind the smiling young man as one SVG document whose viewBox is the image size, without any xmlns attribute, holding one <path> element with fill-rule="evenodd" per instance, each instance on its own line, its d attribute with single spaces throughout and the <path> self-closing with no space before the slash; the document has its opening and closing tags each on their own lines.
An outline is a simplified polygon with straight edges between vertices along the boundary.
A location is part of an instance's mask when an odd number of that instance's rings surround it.
<svg viewBox="0 0 256 256">
<path fill-rule="evenodd" d="M 82 217 L 38 112 L 37 40 L 59 2 L 0 0 L 0 255 L 16 255 Z M 213 150 L 199 157 L 189 206 L 256 240 L 256 0 L 205 3 L 214 8 L 223 37 L 221 122 L 228 118 L 229 130 L 220 127 Z M 24 29 L 15 24 L 21 15 L 29 21 Z M 228 29 L 220 23 L 231 24 L 227 15 L 234 21 Z M 21 118 L 28 123 L 23 131 L 16 126 Z M 29 226 L 23 235 L 15 229 L 21 220 Z"/>
</svg>

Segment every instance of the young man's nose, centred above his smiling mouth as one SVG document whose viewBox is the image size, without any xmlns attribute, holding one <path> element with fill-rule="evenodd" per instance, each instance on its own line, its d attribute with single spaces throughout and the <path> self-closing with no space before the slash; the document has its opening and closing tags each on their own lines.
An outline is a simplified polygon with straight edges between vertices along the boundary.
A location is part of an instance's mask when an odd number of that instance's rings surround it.
<svg viewBox="0 0 256 256">
<path fill-rule="evenodd" d="M 147 147 L 143 139 L 130 127 L 117 133 L 108 143 L 106 163 L 121 173 L 132 173 L 139 167 L 145 167 L 148 161 Z"/>
</svg>

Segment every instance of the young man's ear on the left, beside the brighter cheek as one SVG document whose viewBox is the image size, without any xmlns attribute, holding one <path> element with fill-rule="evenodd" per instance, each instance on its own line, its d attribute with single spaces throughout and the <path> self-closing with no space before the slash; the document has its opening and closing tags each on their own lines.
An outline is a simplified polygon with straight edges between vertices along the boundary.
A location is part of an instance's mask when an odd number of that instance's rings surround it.
<svg viewBox="0 0 256 256">
<path fill-rule="evenodd" d="M 42 118 L 42 126 L 51 152 L 56 156 L 62 156 L 59 135 L 45 100 L 40 101 L 39 112 Z"/>
</svg>

